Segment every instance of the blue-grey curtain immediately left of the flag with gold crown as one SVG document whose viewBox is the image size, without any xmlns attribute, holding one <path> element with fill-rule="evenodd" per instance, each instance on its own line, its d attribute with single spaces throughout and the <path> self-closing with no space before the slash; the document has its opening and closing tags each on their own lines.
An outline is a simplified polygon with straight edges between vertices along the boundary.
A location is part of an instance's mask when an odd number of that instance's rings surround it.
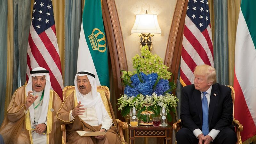
<svg viewBox="0 0 256 144">
<path fill-rule="evenodd" d="M 81 0 L 65 1 L 65 79 L 64 86 L 74 85 L 82 22 Z"/>
</svg>

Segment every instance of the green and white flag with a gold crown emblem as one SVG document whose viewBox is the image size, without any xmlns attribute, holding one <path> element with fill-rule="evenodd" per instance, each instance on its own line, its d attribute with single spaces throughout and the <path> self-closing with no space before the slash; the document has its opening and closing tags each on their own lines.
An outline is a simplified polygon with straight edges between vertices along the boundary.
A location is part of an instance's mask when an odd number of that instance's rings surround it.
<svg viewBox="0 0 256 144">
<path fill-rule="evenodd" d="M 100 0 L 86 0 L 82 18 L 77 72 L 89 70 L 97 85 L 109 87 L 108 50 Z"/>
</svg>

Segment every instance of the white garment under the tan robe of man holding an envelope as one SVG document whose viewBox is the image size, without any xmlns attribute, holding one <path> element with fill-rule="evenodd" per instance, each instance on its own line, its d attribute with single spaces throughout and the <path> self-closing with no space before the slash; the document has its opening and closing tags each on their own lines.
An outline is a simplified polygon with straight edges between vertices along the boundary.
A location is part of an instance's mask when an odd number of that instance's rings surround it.
<svg viewBox="0 0 256 144">
<path fill-rule="evenodd" d="M 92 100 L 92 92 L 89 92 L 88 94 L 84 95 L 84 99 L 87 100 Z M 81 103 L 82 104 L 82 103 Z M 82 108 L 82 107 L 80 107 Z M 91 126 L 98 126 L 99 121 L 98 121 L 98 117 L 96 115 L 96 110 L 93 107 L 91 108 L 85 108 L 84 110 L 85 112 L 83 113 L 84 115 L 78 115 L 85 123 L 90 124 Z M 72 116 L 72 110 L 69 112 L 69 121 L 72 121 L 73 119 L 75 119 Z M 112 119 L 110 118 L 110 116 L 107 114 L 105 115 L 105 117 L 103 117 L 103 124 L 101 125 L 101 129 L 106 129 L 108 131 L 108 129 L 112 126 Z"/>
</svg>

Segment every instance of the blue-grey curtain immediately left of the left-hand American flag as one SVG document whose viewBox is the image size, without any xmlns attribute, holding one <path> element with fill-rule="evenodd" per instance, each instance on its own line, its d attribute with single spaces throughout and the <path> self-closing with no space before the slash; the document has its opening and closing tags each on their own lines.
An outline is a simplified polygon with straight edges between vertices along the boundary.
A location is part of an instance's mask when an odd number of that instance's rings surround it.
<svg viewBox="0 0 256 144">
<path fill-rule="evenodd" d="M 30 0 L 14 0 L 13 92 L 26 82 Z"/>
</svg>

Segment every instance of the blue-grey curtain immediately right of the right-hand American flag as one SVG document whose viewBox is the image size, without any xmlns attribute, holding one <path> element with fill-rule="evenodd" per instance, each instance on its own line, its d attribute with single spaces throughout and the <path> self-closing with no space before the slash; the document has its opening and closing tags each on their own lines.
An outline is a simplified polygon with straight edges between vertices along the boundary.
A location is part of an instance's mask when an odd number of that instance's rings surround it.
<svg viewBox="0 0 256 144">
<path fill-rule="evenodd" d="M 228 1 L 214 0 L 214 67 L 217 82 L 228 85 Z"/>
</svg>

